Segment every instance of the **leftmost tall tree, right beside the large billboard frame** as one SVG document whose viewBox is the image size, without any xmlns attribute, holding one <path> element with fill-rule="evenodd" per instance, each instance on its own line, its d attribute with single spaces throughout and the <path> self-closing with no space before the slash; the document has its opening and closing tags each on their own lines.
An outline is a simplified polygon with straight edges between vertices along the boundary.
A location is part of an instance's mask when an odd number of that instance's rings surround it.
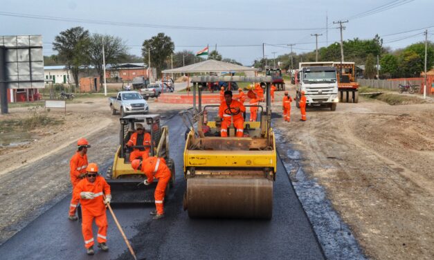
<svg viewBox="0 0 434 260">
<path fill-rule="evenodd" d="M 53 50 L 57 50 L 58 59 L 70 70 L 75 86 L 78 86 L 80 66 L 86 63 L 86 51 L 89 47 L 89 31 L 81 26 L 69 28 L 57 35 L 53 42 Z"/>
</svg>

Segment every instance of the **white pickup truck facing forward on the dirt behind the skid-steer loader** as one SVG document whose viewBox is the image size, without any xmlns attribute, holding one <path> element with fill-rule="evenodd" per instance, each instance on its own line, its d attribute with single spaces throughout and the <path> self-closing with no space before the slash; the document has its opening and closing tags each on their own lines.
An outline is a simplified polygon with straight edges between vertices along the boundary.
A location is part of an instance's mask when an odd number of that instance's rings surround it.
<svg viewBox="0 0 434 260">
<path fill-rule="evenodd" d="M 137 91 L 119 91 L 116 97 L 109 97 L 109 104 L 112 115 L 116 115 L 116 111 L 120 111 L 122 117 L 149 112 L 146 100 Z"/>
</svg>

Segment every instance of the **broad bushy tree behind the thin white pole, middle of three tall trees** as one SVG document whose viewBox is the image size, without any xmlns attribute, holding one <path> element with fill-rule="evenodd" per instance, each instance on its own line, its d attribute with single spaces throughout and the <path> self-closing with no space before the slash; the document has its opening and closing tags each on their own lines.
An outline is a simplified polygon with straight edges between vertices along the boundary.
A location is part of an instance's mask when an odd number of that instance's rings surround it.
<svg viewBox="0 0 434 260">
<path fill-rule="evenodd" d="M 89 44 L 87 55 L 89 64 L 93 65 L 100 76 L 100 84 L 102 84 L 104 79 L 102 46 L 104 46 L 105 64 L 116 66 L 120 61 L 125 60 L 125 57 L 128 55 L 128 48 L 120 37 L 100 35 L 98 33 L 94 33 L 91 36 L 91 43 Z"/>
</svg>

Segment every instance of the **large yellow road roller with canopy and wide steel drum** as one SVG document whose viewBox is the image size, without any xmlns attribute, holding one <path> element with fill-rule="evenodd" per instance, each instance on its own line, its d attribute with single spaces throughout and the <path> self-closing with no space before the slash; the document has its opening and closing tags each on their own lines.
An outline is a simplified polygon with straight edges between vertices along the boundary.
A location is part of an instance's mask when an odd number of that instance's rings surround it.
<svg viewBox="0 0 434 260">
<path fill-rule="evenodd" d="M 228 137 L 219 135 L 221 122 L 216 113 L 219 105 L 202 106 L 201 92 L 208 82 L 253 82 L 266 86 L 265 109 L 257 106 L 257 120 L 250 122 L 244 114 L 244 136 L 236 137 L 233 124 Z M 183 207 L 190 218 L 271 219 L 273 183 L 277 167 L 275 138 L 271 129 L 271 76 L 199 76 L 192 77 L 193 109 L 190 132 L 183 154 L 183 171 L 187 182 Z M 237 93 L 233 93 L 236 98 Z M 196 104 L 197 103 L 197 104 Z M 247 103 L 247 102 L 246 102 Z M 214 115 L 214 119 L 213 119 Z"/>
</svg>

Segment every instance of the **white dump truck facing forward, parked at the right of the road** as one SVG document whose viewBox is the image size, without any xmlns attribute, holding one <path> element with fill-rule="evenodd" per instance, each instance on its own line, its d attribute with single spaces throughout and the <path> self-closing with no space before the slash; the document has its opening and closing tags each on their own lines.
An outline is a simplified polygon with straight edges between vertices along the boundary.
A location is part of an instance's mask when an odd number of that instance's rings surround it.
<svg viewBox="0 0 434 260">
<path fill-rule="evenodd" d="M 332 111 L 338 104 L 338 81 L 334 66 L 318 66 L 316 62 L 300 62 L 296 82 L 296 105 L 300 107 L 301 91 L 308 106 L 326 106 Z"/>
</svg>

